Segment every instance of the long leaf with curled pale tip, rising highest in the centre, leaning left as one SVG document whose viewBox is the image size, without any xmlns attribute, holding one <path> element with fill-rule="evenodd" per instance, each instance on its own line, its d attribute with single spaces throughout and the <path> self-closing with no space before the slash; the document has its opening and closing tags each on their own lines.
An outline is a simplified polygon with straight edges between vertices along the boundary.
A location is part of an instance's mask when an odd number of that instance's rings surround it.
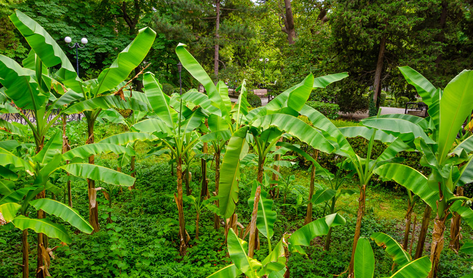
<svg viewBox="0 0 473 278">
<path fill-rule="evenodd" d="M 208 98 L 212 102 L 212 105 L 219 108 L 222 117 L 228 118 L 229 111 L 227 109 L 228 104 L 225 103 L 225 100 L 222 99 L 221 94 L 217 91 L 217 88 L 213 84 L 212 79 L 205 72 L 203 67 L 197 62 L 197 60 L 187 51 L 185 48 L 186 45 L 179 43 L 176 47 L 176 54 L 179 58 L 179 61 L 182 63 L 187 71 L 195 78 L 197 81 L 202 83 L 203 87 L 207 91 Z M 228 93 L 227 93 L 228 94 Z M 228 99 L 230 101 L 230 98 Z M 231 103 L 230 103 L 231 105 Z"/>
</svg>

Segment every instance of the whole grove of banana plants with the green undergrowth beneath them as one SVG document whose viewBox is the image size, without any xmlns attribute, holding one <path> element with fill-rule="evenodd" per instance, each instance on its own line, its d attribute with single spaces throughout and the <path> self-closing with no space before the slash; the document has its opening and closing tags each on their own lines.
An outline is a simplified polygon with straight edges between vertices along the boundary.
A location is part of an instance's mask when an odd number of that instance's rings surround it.
<svg viewBox="0 0 473 278">
<path fill-rule="evenodd" d="M 306 102 L 347 72 L 255 108 L 252 81 L 235 101 L 178 44 L 204 90 L 168 95 L 143 62 L 151 28 L 82 80 L 9 18 L 30 49 L 0 55 L 0 114 L 26 123 L 0 118 L 0 277 L 473 277 L 472 70 L 436 88 L 399 67 L 426 118 L 340 125 Z"/>
</svg>

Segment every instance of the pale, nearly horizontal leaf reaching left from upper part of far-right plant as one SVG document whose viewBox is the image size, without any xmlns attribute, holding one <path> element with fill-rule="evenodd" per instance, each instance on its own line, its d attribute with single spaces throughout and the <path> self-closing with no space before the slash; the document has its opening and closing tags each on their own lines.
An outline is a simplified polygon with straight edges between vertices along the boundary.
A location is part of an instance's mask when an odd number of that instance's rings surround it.
<svg viewBox="0 0 473 278">
<path fill-rule="evenodd" d="M 404 142 L 413 141 L 415 138 L 422 138 L 427 144 L 435 144 L 435 142 L 424 132 L 422 127 L 404 119 L 364 119 L 362 120 L 362 123 L 365 126 L 380 129 L 386 133 L 399 137 L 403 139 Z"/>
</svg>

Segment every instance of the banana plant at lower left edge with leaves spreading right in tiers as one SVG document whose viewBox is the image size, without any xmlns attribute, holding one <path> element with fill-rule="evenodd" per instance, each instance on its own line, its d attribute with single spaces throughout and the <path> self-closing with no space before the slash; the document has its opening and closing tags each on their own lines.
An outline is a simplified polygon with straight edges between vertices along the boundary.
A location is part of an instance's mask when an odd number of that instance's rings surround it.
<svg viewBox="0 0 473 278">
<path fill-rule="evenodd" d="M 31 204 L 38 211 L 42 210 L 48 214 L 57 215 L 65 221 L 73 221 L 70 223 L 74 226 L 75 224 L 73 223 L 78 223 L 77 221 L 79 221 L 77 216 L 75 216 L 77 213 L 73 214 L 72 212 L 74 211 L 72 211 L 72 209 L 66 205 L 62 205 L 57 201 L 45 198 L 38 198 L 34 201 L 32 201 L 32 199 L 39 192 L 45 191 L 45 189 L 55 190 L 55 186 L 51 183 L 51 177 L 56 175 L 58 172 L 62 172 L 63 170 L 68 172 L 70 175 L 79 178 L 94 178 L 105 183 L 111 183 L 116 185 L 133 185 L 135 179 L 128 175 L 119 173 L 117 171 L 102 166 L 80 163 L 80 161 L 82 159 L 87 158 L 89 154 L 112 152 L 115 154 L 134 154 L 132 150 L 112 144 L 85 145 L 72 149 L 71 151 L 68 151 L 65 154 L 62 154 L 62 135 L 59 131 L 55 133 L 51 138 L 49 138 L 47 143 L 44 145 L 44 148 L 34 156 L 19 157 L 3 148 L 0 148 L 0 165 L 4 169 L 8 170 L 7 172 L 0 172 L 0 176 L 2 178 L 1 194 L 3 195 L 3 198 L 1 198 L 0 200 L 0 205 L 6 203 L 17 203 L 17 205 L 5 205 L 5 211 L 2 207 L 2 209 L 0 209 L 0 213 L 4 216 L 7 215 L 9 219 L 13 221 L 14 226 L 18 225 L 17 227 L 23 230 L 23 260 L 24 266 L 26 266 L 26 268 L 24 267 L 23 269 L 24 277 L 28 277 L 27 229 L 33 229 L 38 234 L 45 234 L 48 237 L 54 238 L 59 237 L 59 239 L 62 241 L 65 240 L 65 242 L 70 242 L 70 238 L 68 238 L 68 236 L 64 235 L 63 233 L 64 229 L 60 229 L 54 225 L 51 225 L 48 220 L 42 219 L 44 217 L 21 218 L 27 216 L 28 206 Z M 73 161 L 72 163 L 65 164 L 67 160 Z M 16 180 L 19 175 L 24 172 L 31 176 L 33 183 L 31 185 L 26 185 L 23 188 L 14 190 L 14 184 L 13 182 L 11 182 L 11 180 Z M 21 203 L 23 198 L 25 198 L 25 200 L 20 206 L 19 203 Z M 16 208 L 16 210 L 12 211 L 12 208 Z M 20 211 L 22 216 L 18 216 L 20 218 L 18 220 L 15 220 L 14 217 L 18 211 Z M 83 218 L 80 219 L 83 220 Z M 44 224 L 44 226 L 42 226 L 41 224 L 43 222 L 46 223 Z M 87 228 L 90 228 L 90 225 L 88 225 L 88 223 L 86 224 L 87 225 L 84 225 L 82 223 L 77 228 L 82 229 L 87 233 L 91 233 L 92 230 L 89 230 Z M 42 251 L 41 246 L 47 248 L 43 241 L 41 241 L 38 246 L 40 251 Z M 42 256 L 42 252 L 41 257 L 39 257 L 39 259 L 41 260 L 41 262 L 38 264 L 36 273 L 40 272 L 40 275 L 46 276 L 47 267 L 43 265 L 44 258 Z"/>
</svg>

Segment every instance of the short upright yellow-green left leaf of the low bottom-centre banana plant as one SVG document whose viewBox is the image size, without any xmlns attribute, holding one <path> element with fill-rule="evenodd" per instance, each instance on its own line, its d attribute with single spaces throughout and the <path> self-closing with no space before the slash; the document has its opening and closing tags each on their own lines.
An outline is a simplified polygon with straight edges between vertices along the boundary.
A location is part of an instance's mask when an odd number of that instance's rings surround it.
<svg viewBox="0 0 473 278">
<path fill-rule="evenodd" d="M 261 267 L 261 263 L 246 255 L 248 244 L 238 238 L 232 228 L 228 232 L 227 242 L 228 253 L 236 268 L 249 278 L 258 278 L 256 272 Z"/>
</svg>

